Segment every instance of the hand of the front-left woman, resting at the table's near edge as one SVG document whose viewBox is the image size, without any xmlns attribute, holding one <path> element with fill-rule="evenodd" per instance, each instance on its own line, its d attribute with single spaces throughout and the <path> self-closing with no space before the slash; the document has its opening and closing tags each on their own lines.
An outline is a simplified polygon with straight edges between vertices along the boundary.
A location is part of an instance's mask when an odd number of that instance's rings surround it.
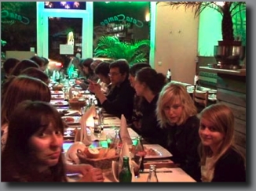
<svg viewBox="0 0 256 191">
<path fill-rule="evenodd" d="M 86 175 L 79 179 L 79 182 L 104 182 L 101 168 L 89 168 Z"/>
</svg>

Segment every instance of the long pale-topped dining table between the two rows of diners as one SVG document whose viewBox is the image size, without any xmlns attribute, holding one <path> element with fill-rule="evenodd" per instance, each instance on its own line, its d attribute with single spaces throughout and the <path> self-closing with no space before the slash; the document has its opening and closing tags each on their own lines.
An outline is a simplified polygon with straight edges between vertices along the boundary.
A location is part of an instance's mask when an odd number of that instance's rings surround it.
<svg viewBox="0 0 256 191">
<path fill-rule="evenodd" d="M 86 94 L 88 96 L 88 92 Z M 64 100 L 64 92 L 52 91 L 51 103 L 56 106 L 57 110 L 63 114 L 64 121 L 66 119 L 73 119 L 72 121 L 66 121 L 67 127 L 64 131 L 64 153 L 66 153 L 69 147 L 75 142 L 75 131 L 81 128 L 80 118 L 82 116 L 82 110 L 73 110 L 70 108 L 68 101 Z M 65 112 L 64 112 L 65 111 Z M 104 114 L 104 128 L 101 135 L 94 135 L 92 133 L 91 145 L 97 145 L 100 147 L 108 147 L 106 141 L 109 136 L 115 135 L 115 129 L 120 127 L 120 119 L 112 116 L 111 114 Z M 134 132 L 132 128 L 127 127 L 128 133 L 132 140 L 135 140 L 138 136 L 137 132 Z M 93 132 L 93 128 L 91 128 Z M 97 144 L 96 144 L 97 143 Z M 147 147 L 148 146 L 148 147 Z M 171 153 L 168 153 L 163 147 L 159 145 L 144 144 L 145 148 L 152 148 L 159 152 L 159 157 L 145 157 L 144 158 L 144 171 L 141 173 L 140 178 L 133 177 L 132 182 L 147 182 L 148 168 L 150 164 L 155 164 L 157 168 L 157 176 L 159 182 L 196 182 L 181 168 L 177 168 L 172 160 L 170 160 Z M 81 175 L 68 175 L 69 182 L 75 182 Z M 113 175 L 112 168 L 104 169 L 104 182 L 118 182 Z"/>
</svg>

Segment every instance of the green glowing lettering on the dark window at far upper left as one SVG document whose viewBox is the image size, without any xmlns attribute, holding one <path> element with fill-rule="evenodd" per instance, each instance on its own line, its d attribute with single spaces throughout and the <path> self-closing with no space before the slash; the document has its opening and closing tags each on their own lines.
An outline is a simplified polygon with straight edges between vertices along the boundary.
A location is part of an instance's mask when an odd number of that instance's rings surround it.
<svg viewBox="0 0 256 191">
<path fill-rule="evenodd" d="M 11 19 L 11 20 L 1 20 L 1 23 L 15 23 L 15 20 L 19 20 L 20 23 L 29 24 L 30 20 L 26 16 L 19 15 L 17 13 L 9 12 L 8 10 L 1 11 L 1 18 L 4 19 Z"/>
</svg>

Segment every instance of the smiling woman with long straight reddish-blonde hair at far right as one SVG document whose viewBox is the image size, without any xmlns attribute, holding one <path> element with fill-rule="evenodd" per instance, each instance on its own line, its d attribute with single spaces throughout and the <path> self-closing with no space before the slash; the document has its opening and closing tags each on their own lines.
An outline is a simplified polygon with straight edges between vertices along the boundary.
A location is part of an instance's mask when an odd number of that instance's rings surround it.
<svg viewBox="0 0 256 191">
<path fill-rule="evenodd" d="M 200 114 L 199 154 L 203 182 L 245 182 L 243 155 L 234 146 L 234 115 L 229 106 L 214 104 Z"/>
</svg>

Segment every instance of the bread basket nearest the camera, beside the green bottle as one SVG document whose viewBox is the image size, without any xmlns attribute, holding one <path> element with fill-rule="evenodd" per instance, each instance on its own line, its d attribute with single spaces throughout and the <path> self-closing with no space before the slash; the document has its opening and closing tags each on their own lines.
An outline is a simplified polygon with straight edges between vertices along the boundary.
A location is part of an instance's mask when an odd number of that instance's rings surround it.
<svg viewBox="0 0 256 191">
<path fill-rule="evenodd" d="M 115 149 L 89 147 L 84 150 L 77 150 L 77 156 L 81 163 L 91 164 L 94 168 L 101 168 L 102 170 L 112 168 L 112 161 L 119 158 Z"/>
</svg>

